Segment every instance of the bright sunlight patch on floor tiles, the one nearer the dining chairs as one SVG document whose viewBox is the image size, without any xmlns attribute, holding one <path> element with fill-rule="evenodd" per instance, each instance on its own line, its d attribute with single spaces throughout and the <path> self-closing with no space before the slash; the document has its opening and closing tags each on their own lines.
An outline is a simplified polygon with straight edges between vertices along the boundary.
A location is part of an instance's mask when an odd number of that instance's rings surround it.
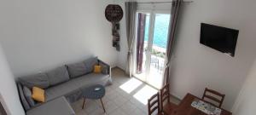
<svg viewBox="0 0 256 115">
<path fill-rule="evenodd" d="M 143 89 L 140 89 L 139 91 L 137 91 L 137 93 L 135 95 L 133 95 L 133 97 L 135 99 L 137 99 L 137 101 L 140 101 L 142 102 L 144 105 L 147 105 L 148 104 L 148 99 L 157 93 L 157 90 L 148 86 L 148 85 L 145 85 L 143 87 Z"/>
</svg>

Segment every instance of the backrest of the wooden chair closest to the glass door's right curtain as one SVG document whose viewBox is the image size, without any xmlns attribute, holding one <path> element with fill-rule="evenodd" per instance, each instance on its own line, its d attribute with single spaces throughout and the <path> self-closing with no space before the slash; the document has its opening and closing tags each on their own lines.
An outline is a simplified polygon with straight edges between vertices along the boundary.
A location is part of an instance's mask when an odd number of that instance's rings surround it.
<svg viewBox="0 0 256 115">
<path fill-rule="evenodd" d="M 160 109 L 163 109 L 165 101 L 170 103 L 169 83 L 160 89 Z"/>
</svg>

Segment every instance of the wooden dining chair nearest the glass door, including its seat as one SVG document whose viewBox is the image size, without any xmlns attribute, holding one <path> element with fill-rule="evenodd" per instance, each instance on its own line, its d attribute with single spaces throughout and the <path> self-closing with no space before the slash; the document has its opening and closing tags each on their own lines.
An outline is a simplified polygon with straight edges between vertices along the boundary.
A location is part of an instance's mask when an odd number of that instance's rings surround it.
<svg viewBox="0 0 256 115">
<path fill-rule="evenodd" d="M 177 105 L 170 101 L 169 83 L 167 83 L 160 89 L 160 110 L 161 112 L 170 115 L 176 107 Z"/>
</svg>

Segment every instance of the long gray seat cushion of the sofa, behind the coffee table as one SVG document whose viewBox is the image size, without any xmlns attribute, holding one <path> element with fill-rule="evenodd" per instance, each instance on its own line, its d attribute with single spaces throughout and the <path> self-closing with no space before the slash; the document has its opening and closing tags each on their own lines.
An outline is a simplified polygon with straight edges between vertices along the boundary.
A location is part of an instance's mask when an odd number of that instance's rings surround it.
<svg viewBox="0 0 256 115">
<path fill-rule="evenodd" d="M 77 92 L 78 89 L 84 89 L 94 84 L 106 85 L 111 82 L 108 75 L 90 73 L 79 78 L 73 78 L 66 83 L 61 83 L 55 87 L 45 90 L 46 101 L 53 100 L 61 95 L 69 95 L 71 92 Z"/>
</svg>

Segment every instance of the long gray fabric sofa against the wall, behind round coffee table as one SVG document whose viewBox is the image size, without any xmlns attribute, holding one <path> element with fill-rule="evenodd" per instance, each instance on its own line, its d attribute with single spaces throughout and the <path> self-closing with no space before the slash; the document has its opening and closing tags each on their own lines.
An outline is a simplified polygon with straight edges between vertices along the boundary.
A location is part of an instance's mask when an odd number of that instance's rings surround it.
<svg viewBox="0 0 256 115">
<path fill-rule="evenodd" d="M 94 73 L 95 65 L 102 66 L 102 73 Z M 32 100 L 32 87 L 37 86 L 45 90 L 45 102 L 53 101 L 61 96 L 66 97 L 69 103 L 82 98 L 82 89 L 94 84 L 104 86 L 112 83 L 111 70 L 108 64 L 97 57 L 78 63 L 60 66 L 49 72 L 21 77 L 17 81 L 20 101 L 27 111 L 44 105 Z"/>
</svg>

